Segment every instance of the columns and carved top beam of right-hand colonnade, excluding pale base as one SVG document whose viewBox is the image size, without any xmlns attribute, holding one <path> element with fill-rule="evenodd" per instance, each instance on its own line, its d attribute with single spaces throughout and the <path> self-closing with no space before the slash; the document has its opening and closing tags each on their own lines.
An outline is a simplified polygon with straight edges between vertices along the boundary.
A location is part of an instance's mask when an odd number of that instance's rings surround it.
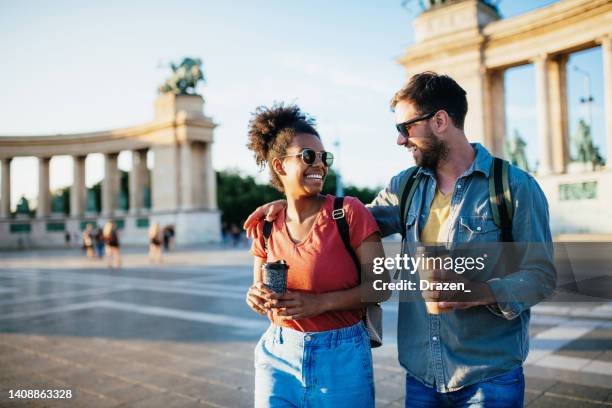
<svg viewBox="0 0 612 408">
<path fill-rule="evenodd" d="M 465 0 L 422 13 L 414 26 L 417 42 L 399 59 L 408 76 L 434 70 L 457 79 L 468 94 L 466 134 L 497 155 L 502 154 L 506 135 L 504 72 L 533 64 L 538 176 L 562 174 L 569 162 L 568 57 L 600 46 L 607 157 L 612 166 L 612 3 L 562 0 L 502 20 L 487 4 Z"/>
</svg>

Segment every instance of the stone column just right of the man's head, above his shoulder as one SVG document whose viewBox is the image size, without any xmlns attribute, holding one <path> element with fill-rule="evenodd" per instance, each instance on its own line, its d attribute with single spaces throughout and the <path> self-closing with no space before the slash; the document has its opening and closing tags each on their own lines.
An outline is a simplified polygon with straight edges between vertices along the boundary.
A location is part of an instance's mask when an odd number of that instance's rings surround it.
<svg viewBox="0 0 612 408">
<path fill-rule="evenodd" d="M 487 73 L 485 94 L 485 130 L 486 147 L 491 154 L 502 157 L 506 138 L 506 104 L 504 89 L 504 71 Z"/>
</svg>

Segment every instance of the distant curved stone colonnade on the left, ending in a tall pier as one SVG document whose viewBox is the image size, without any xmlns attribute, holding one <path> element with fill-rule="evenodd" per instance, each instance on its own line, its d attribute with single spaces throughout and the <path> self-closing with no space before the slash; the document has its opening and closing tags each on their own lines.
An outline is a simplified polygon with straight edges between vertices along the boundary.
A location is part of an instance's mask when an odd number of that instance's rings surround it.
<svg viewBox="0 0 612 408">
<path fill-rule="evenodd" d="M 131 216 L 141 217 L 142 220 L 145 216 L 146 225 L 151 218 L 168 224 L 183 224 L 185 230 L 191 226 L 209 228 L 207 234 L 201 234 L 202 237 L 208 236 L 207 241 L 218 240 L 216 177 L 212 167 L 215 124 L 204 116 L 203 106 L 201 96 L 164 94 L 155 103 L 155 120 L 145 125 L 78 135 L 0 136 L 0 223 L 2 220 L 11 222 L 10 164 L 13 158 L 23 156 L 38 159 L 38 206 L 34 220 L 63 217 L 51 214 L 49 163 L 54 156 L 70 155 L 73 184 L 68 218 L 84 220 L 87 217 L 115 219 Z M 117 158 L 122 151 L 130 151 L 132 155 L 128 212 L 119 209 L 120 170 Z M 147 168 L 149 151 L 154 159 L 151 171 Z M 87 211 L 85 161 L 87 155 L 92 153 L 104 155 L 99 214 Z M 145 206 L 147 187 L 151 191 L 150 209 Z M 197 214 L 203 215 L 198 218 Z M 208 227 L 202 225 L 203 219 L 208 220 Z M 0 235 L 1 229 L 0 225 Z M 192 231 L 189 236 L 196 239 L 197 235 L 196 231 Z"/>
</svg>

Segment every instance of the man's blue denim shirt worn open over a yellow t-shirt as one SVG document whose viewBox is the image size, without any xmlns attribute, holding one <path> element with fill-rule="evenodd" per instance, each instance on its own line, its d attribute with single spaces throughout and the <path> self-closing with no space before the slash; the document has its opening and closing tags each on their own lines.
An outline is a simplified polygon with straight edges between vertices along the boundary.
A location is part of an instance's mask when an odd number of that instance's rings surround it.
<svg viewBox="0 0 612 408">
<path fill-rule="evenodd" d="M 493 157 L 478 143 L 472 147 L 474 162 L 455 183 L 450 203 L 451 244 L 501 240 L 489 199 Z M 418 245 L 437 188 L 433 171 L 418 171 L 424 177 L 408 209 L 404 253 Z M 368 205 L 383 236 L 401 231 L 398 194 L 406 172 L 394 176 Z M 510 166 L 509 184 L 514 241 L 544 245 L 521 251 L 515 272 L 487 280 L 497 303 L 439 315 L 428 314 L 423 301 L 399 303 L 400 364 L 409 375 L 439 392 L 455 391 L 521 366 L 529 351 L 529 308 L 550 296 L 555 288 L 546 197 L 535 179 L 515 166 Z"/>
</svg>

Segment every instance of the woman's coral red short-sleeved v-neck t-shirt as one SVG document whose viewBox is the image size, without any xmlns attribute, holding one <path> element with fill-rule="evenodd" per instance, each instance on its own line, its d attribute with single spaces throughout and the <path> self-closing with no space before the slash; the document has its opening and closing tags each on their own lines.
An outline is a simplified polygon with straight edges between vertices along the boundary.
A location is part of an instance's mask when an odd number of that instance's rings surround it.
<svg viewBox="0 0 612 408">
<path fill-rule="evenodd" d="M 264 250 L 263 222 L 258 225 L 260 239 L 254 240 L 251 254 L 269 262 L 284 259 L 289 270 L 287 289 L 295 292 L 325 293 L 350 289 L 359 284 L 357 268 L 342 243 L 335 220 L 332 219 L 334 196 L 325 201 L 306 237 L 294 243 L 285 224 L 285 212 L 274 221 L 268 241 L 268 259 Z M 345 197 L 344 211 L 349 225 L 351 246 L 359 248 L 364 239 L 378 232 L 378 225 L 368 209 L 354 197 Z M 279 326 L 302 332 L 335 330 L 352 326 L 362 317 L 361 309 L 335 310 L 299 320 L 273 319 Z"/>
</svg>

